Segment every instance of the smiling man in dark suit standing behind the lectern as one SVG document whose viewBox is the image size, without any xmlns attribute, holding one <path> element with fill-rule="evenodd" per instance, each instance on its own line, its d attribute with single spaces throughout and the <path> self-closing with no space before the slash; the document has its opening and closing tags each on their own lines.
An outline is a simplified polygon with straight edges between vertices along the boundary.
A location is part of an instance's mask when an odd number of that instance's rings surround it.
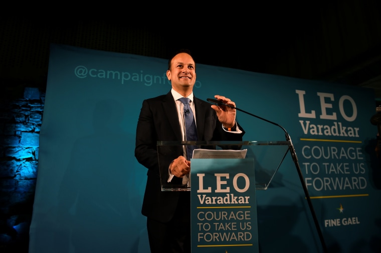
<svg viewBox="0 0 381 253">
<path fill-rule="evenodd" d="M 236 122 L 236 109 L 211 105 L 193 95 L 196 63 L 188 50 L 169 59 L 166 75 L 172 89 L 165 95 L 145 99 L 137 123 L 135 157 L 148 168 L 141 212 L 147 217 L 151 252 L 190 252 L 190 191 L 161 191 L 156 143 L 185 140 L 183 105 L 178 101 L 181 97 L 191 100 L 198 140 L 242 140 L 244 130 Z M 225 96 L 215 98 L 236 106 Z M 168 181 L 186 184 L 190 161 L 185 149 L 173 148 L 165 160 Z"/>
</svg>

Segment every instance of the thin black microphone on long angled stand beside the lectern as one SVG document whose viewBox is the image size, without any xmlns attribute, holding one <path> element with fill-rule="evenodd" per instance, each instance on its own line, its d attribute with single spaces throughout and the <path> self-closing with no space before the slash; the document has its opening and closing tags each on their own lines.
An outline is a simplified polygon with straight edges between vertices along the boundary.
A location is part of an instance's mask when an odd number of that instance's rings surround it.
<svg viewBox="0 0 381 253">
<path fill-rule="evenodd" d="M 292 144 L 292 141 L 291 141 L 291 137 L 290 135 L 288 134 L 288 132 L 286 131 L 286 129 L 283 128 L 283 126 L 281 126 L 280 124 L 277 124 L 275 122 L 272 122 L 270 120 L 267 120 L 263 117 L 260 117 L 260 116 L 257 116 L 257 115 L 254 115 L 250 112 L 247 112 L 245 110 L 242 110 L 242 109 L 239 109 L 235 106 L 232 106 L 232 105 L 229 105 L 229 104 L 226 104 L 226 103 L 223 103 L 222 101 L 220 100 L 217 100 L 217 99 L 211 99 L 211 98 L 208 98 L 207 99 L 209 102 L 211 103 L 214 103 L 218 106 L 221 106 L 221 104 L 225 105 L 225 106 L 228 106 L 228 107 L 231 107 L 231 108 L 234 108 L 236 110 L 239 110 L 239 111 L 242 111 L 242 112 L 245 112 L 246 114 L 249 114 L 249 115 L 252 115 L 256 118 L 259 118 L 259 119 L 262 119 L 266 122 L 269 122 L 271 124 L 274 124 L 274 125 L 277 125 L 279 126 L 280 128 L 283 129 L 283 131 L 285 132 L 286 134 L 286 140 L 287 141 L 290 141 L 290 145 L 289 145 L 289 148 L 290 148 L 290 153 L 291 153 L 291 156 L 292 156 L 292 160 L 294 161 L 295 163 L 295 166 L 296 166 L 296 170 L 298 171 L 298 175 L 299 175 L 299 179 L 300 179 L 300 182 L 302 183 L 302 186 L 303 186 L 303 190 L 304 190 L 304 195 L 306 196 L 306 199 L 307 199 L 307 203 L 308 203 L 308 206 L 309 206 L 309 209 L 311 211 L 311 215 L 312 215 L 312 218 L 313 218 L 313 221 L 315 223 L 315 227 L 316 227 L 316 230 L 317 230 L 317 233 L 319 235 L 319 239 L 320 239 L 320 243 L 321 243 L 321 246 L 323 247 L 323 251 L 324 252 L 328 252 L 327 250 L 327 247 L 325 245 L 325 242 L 324 242 L 324 237 L 323 237 L 323 233 L 321 232 L 321 229 L 320 229 L 320 226 L 319 226 L 319 222 L 317 220 L 317 217 L 316 217 L 316 214 L 315 214 L 315 210 L 313 209 L 313 205 L 312 205 L 312 202 L 311 202 L 311 198 L 309 196 L 309 193 L 308 193 L 308 189 L 307 189 L 307 186 L 304 182 L 304 178 L 303 178 L 303 174 L 302 174 L 302 171 L 300 169 L 300 165 L 299 165 L 299 162 L 298 162 L 298 157 L 296 156 L 296 152 L 295 152 L 295 148 L 294 148 L 294 145 Z"/>
</svg>

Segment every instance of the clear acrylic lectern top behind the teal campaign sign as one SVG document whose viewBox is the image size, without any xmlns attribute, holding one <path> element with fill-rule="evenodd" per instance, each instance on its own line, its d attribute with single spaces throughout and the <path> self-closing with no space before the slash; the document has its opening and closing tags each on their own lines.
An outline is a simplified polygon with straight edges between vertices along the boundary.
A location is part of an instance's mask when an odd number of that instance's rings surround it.
<svg viewBox="0 0 381 253">
<path fill-rule="evenodd" d="M 194 145 L 204 149 L 247 149 L 245 158 L 254 158 L 256 189 L 267 189 L 272 178 L 289 150 L 290 141 L 157 141 L 161 190 L 189 190 L 181 178 L 174 177 L 168 182 L 170 162 L 181 155 L 184 145 Z M 176 156 L 177 154 L 177 156 Z M 190 160 L 192 162 L 192 159 Z M 190 166 L 192 173 L 192 165 Z"/>
</svg>

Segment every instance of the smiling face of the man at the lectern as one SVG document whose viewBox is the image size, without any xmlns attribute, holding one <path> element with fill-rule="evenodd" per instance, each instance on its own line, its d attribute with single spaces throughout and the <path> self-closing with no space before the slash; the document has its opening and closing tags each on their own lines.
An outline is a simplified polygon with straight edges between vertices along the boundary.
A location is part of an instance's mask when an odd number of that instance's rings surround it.
<svg viewBox="0 0 381 253">
<path fill-rule="evenodd" d="M 196 64 L 192 56 L 185 52 L 176 54 L 170 64 L 170 69 L 166 72 L 168 80 L 172 83 L 172 88 L 177 92 L 192 92 L 196 82 Z M 190 94 L 189 92 L 189 94 Z"/>
</svg>

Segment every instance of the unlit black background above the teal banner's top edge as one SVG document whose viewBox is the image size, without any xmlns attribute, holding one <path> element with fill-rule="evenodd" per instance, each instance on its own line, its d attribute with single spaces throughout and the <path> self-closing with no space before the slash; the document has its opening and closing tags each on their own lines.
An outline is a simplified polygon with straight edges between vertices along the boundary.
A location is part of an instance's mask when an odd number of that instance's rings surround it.
<svg viewBox="0 0 381 253">
<path fill-rule="evenodd" d="M 0 78 L 44 89 L 50 43 L 159 58 L 185 47 L 197 63 L 371 87 L 381 99 L 380 1 L 229 4 L 121 4 L 103 12 L 106 5 L 90 4 L 97 11 L 76 13 L 57 5 L 53 14 L 24 15 L 4 9 Z"/>
</svg>

